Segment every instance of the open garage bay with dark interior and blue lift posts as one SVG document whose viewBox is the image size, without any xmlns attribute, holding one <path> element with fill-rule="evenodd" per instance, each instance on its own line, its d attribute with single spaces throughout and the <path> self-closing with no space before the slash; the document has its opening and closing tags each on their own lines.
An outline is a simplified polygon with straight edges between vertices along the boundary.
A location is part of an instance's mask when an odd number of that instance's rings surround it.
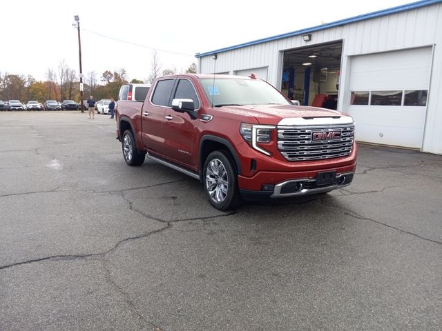
<svg viewBox="0 0 442 331">
<path fill-rule="evenodd" d="M 301 105 L 337 109 L 342 51 L 342 40 L 286 50 L 281 92 Z"/>
</svg>

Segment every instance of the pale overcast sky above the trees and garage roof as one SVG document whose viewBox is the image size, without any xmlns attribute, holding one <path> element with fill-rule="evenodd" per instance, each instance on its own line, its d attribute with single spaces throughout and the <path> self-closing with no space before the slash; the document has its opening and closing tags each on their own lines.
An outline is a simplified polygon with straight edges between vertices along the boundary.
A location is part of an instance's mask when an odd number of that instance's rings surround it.
<svg viewBox="0 0 442 331">
<path fill-rule="evenodd" d="M 198 63 L 195 53 L 218 50 L 400 6 L 404 0 L 310 1 L 52 1 L 1 3 L 0 72 L 46 80 L 60 61 L 79 72 L 79 15 L 83 73 L 126 69 L 128 79 L 146 79 L 152 50 L 162 70 L 178 72 Z"/>
</svg>

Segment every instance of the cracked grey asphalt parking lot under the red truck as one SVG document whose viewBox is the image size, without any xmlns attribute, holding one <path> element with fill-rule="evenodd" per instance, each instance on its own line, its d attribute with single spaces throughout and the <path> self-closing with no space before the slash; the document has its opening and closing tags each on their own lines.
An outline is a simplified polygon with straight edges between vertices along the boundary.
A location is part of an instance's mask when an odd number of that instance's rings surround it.
<svg viewBox="0 0 442 331">
<path fill-rule="evenodd" d="M 220 212 L 115 121 L 0 112 L 0 330 L 442 330 L 442 156 Z"/>
</svg>

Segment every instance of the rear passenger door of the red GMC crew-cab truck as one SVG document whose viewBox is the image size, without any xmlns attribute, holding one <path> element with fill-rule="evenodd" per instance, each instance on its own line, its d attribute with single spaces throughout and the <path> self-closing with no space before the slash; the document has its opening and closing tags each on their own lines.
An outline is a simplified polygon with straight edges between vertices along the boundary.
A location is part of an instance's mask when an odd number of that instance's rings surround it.
<svg viewBox="0 0 442 331">
<path fill-rule="evenodd" d="M 161 156 L 164 156 L 164 114 L 166 110 L 171 110 L 174 83 L 175 79 L 157 81 L 142 108 L 142 141 L 149 152 Z"/>
</svg>

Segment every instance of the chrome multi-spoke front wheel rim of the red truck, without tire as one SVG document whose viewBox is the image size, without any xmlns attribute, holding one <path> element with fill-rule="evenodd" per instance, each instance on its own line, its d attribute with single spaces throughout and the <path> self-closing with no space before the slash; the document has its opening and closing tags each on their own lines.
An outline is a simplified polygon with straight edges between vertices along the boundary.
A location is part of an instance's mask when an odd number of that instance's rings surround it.
<svg viewBox="0 0 442 331">
<path fill-rule="evenodd" d="M 213 159 L 207 165 L 206 188 L 209 197 L 215 202 L 222 202 L 227 197 L 229 177 L 224 164 L 219 159 Z"/>
</svg>

